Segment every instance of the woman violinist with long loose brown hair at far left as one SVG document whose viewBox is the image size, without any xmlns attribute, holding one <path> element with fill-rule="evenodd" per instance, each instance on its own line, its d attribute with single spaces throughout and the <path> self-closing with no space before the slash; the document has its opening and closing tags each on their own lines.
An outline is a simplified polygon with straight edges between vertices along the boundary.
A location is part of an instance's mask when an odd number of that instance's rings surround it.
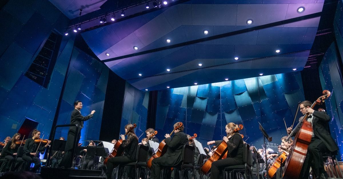
<svg viewBox="0 0 343 179">
<path fill-rule="evenodd" d="M 7 166 L 6 168 L 10 168 L 10 166 L 12 165 L 14 158 L 17 156 L 17 151 L 19 148 L 19 145 L 15 144 L 15 141 L 18 141 L 20 139 L 20 133 L 15 133 L 13 135 L 13 137 L 11 138 L 11 140 L 6 144 L 6 146 L 3 148 L 2 150 L 2 155 L 5 159 L 8 159 L 7 162 Z M 3 163 L 1 165 L 0 171 L 3 170 L 3 168 L 5 167 L 4 165 L 5 163 Z"/>
</svg>

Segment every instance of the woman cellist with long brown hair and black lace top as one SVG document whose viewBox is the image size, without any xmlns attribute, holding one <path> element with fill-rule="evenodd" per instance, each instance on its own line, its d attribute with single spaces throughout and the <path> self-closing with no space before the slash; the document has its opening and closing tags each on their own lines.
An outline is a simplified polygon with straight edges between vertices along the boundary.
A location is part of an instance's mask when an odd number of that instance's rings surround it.
<svg viewBox="0 0 343 179">
<path fill-rule="evenodd" d="M 136 151 L 138 147 L 138 137 L 134 133 L 132 124 L 127 124 L 125 126 L 125 133 L 128 132 L 128 138 L 125 139 L 124 135 L 120 135 L 121 139 L 123 140 L 120 147 L 124 148 L 124 154 L 118 157 L 112 157 L 107 160 L 107 179 L 112 179 L 112 172 L 113 168 L 117 167 L 118 165 L 128 164 L 131 162 L 136 161 Z"/>
</svg>

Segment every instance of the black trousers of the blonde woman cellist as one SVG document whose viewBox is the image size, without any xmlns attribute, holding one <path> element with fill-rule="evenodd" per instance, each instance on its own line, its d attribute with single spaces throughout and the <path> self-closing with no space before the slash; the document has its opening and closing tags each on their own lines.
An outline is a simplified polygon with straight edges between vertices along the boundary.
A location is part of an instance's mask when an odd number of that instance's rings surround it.
<svg viewBox="0 0 343 179">
<path fill-rule="evenodd" d="M 215 161 L 212 163 L 212 166 L 211 166 L 211 179 L 220 178 L 220 173 L 223 168 L 227 166 L 241 165 L 241 164 L 243 164 L 243 160 L 236 159 L 236 158 L 225 158 L 225 159 Z"/>
</svg>

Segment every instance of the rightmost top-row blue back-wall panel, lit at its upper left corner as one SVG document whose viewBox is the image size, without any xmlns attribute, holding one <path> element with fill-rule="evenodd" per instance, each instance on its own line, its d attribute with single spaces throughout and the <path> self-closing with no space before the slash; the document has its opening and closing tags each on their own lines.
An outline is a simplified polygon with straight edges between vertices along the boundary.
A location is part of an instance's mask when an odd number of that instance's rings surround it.
<svg viewBox="0 0 343 179">
<path fill-rule="evenodd" d="M 294 77 L 294 74 L 292 73 L 283 73 L 283 74 L 277 74 L 275 75 L 277 80 L 279 81 L 279 84 L 282 88 L 282 90 L 285 93 L 300 89 L 299 85 Z"/>
</svg>

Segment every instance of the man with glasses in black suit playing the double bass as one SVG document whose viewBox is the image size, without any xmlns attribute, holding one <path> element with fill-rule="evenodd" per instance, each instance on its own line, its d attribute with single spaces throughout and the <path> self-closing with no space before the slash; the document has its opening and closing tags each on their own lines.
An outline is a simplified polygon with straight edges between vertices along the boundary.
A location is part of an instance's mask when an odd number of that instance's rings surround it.
<svg viewBox="0 0 343 179">
<path fill-rule="evenodd" d="M 306 120 L 312 124 L 313 128 L 311 143 L 308 145 L 299 178 L 308 178 L 310 167 L 312 167 L 316 178 L 327 178 L 328 174 L 324 170 L 322 154 L 336 152 L 338 146 L 330 134 L 330 116 L 325 111 L 319 112 L 313 110 L 311 105 L 312 103 L 310 101 L 303 101 L 299 106 L 300 112 L 303 115 L 309 114 Z M 292 128 L 287 128 L 287 132 L 291 133 Z"/>
</svg>

